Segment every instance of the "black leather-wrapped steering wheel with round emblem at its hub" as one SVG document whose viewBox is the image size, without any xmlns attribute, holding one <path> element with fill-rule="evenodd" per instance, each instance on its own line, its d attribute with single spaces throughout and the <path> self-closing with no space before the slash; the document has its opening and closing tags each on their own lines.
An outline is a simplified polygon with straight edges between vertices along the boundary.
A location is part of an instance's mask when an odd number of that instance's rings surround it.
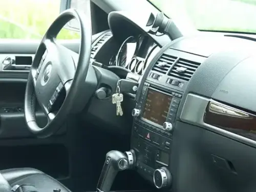
<svg viewBox="0 0 256 192">
<path fill-rule="evenodd" d="M 67 116 L 81 110 L 92 96 L 88 95 L 90 91 L 85 91 L 87 84 L 90 84 L 86 81 L 92 46 L 89 17 L 75 9 L 62 12 L 37 48 L 28 76 L 24 106 L 27 127 L 37 137 L 48 137 L 55 133 Z M 55 41 L 57 34 L 71 19 L 76 19 L 80 26 L 79 54 Z M 36 99 L 48 117 L 44 128 L 36 123 Z"/>
</svg>

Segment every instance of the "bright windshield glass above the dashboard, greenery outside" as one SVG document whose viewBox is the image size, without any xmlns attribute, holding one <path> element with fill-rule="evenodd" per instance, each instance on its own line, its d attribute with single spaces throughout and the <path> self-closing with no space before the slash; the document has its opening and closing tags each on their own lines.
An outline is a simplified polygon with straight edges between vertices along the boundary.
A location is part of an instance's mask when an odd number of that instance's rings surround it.
<svg viewBox="0 0 256 192">
<path fill-rule="evenodd" d="M 256 33 L 256 0 L 149 0 L 198 30 Z"/>
</svg>

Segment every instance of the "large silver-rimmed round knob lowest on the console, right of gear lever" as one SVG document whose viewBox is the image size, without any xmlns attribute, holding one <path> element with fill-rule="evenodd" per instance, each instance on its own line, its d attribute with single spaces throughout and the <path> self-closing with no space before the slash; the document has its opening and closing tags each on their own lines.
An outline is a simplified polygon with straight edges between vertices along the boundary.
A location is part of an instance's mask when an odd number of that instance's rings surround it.
<svg viewBox="0 0 256 192">
<path fill-rule="evenodd" d="M 172 175 L 166 167 L 155 170 L 153 176 L 157 188 L 169 187 L 172 184 Z"/>
</svg>

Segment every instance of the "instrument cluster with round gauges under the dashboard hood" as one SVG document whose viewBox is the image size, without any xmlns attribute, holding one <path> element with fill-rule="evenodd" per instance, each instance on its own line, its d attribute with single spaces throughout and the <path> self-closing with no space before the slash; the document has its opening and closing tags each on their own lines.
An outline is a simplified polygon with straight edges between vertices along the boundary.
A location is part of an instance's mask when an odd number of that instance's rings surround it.
<svg viewBox="0 0 256 192">
<path fill-rule="evenodd" d="M 111 57 L 109 65 L 142 75 L 148 64 L 148 57 L 156 47 L 157 45 L 146 36 L 130 36 L 122 42 L 117 54 Z"/>
</svg>

